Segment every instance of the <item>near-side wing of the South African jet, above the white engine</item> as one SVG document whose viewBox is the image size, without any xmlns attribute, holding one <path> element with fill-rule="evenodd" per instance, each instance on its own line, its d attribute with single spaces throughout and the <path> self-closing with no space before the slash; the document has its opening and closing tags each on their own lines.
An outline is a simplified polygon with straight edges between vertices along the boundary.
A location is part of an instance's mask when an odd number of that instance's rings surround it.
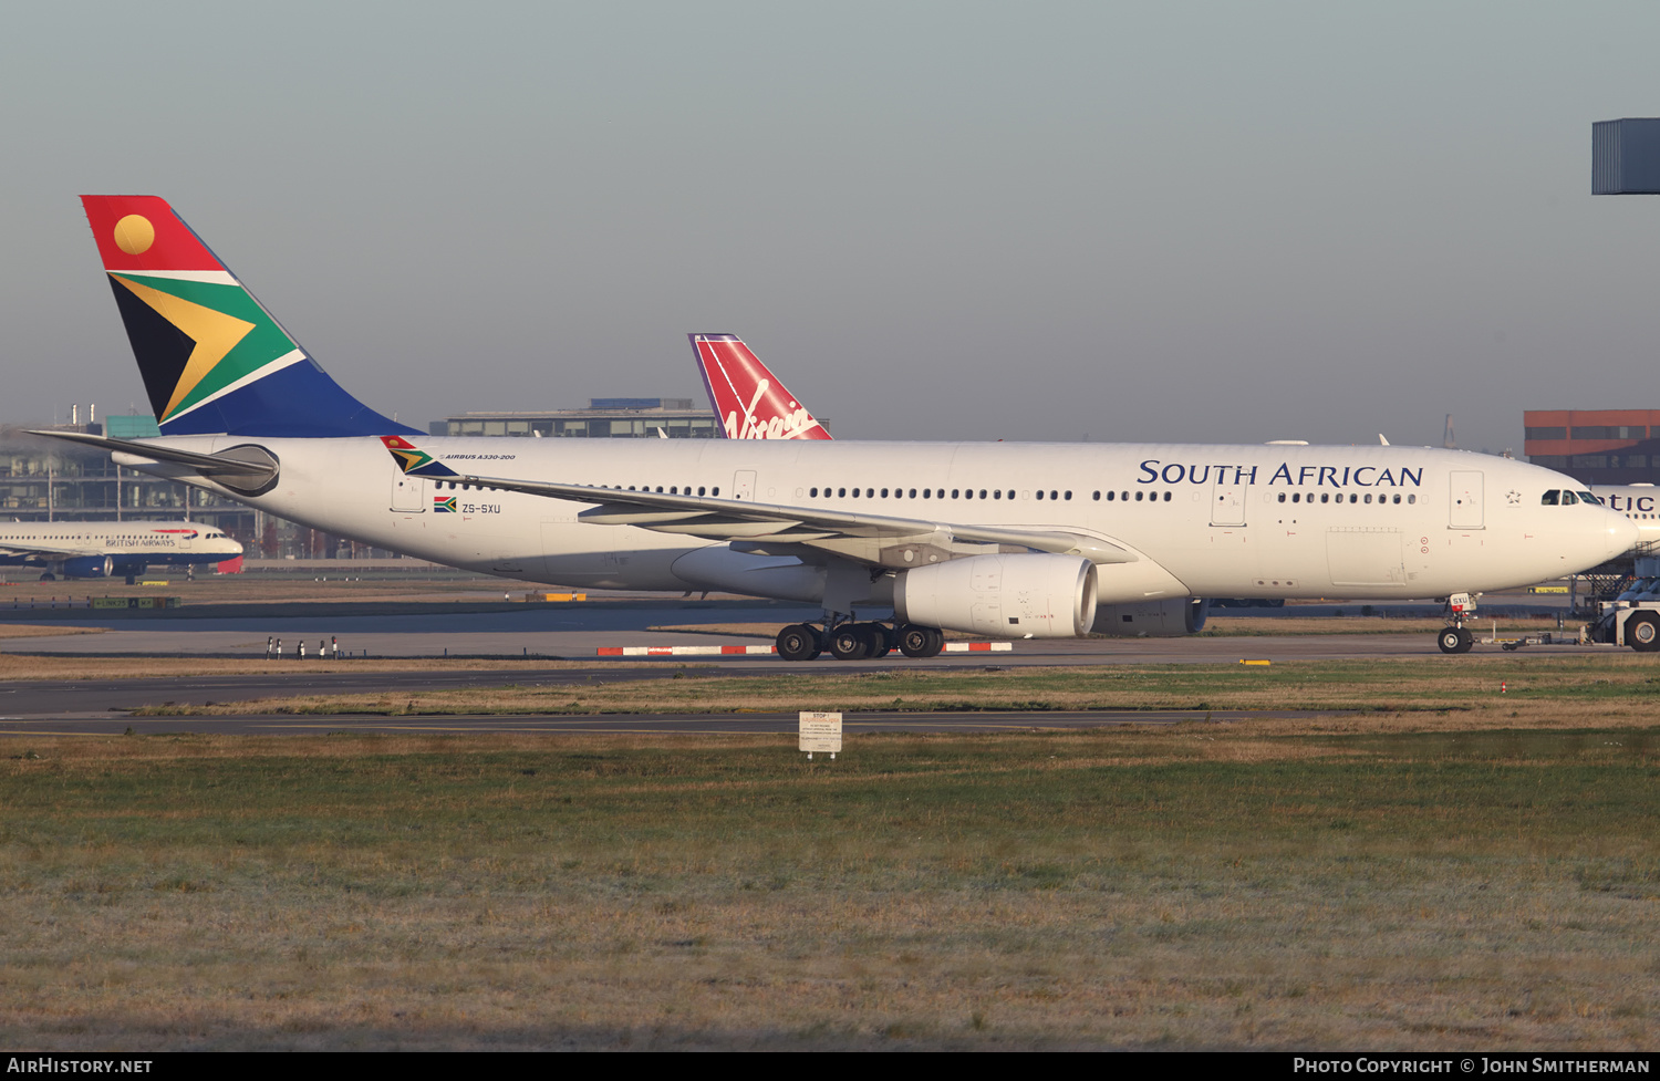
<svg viewBox="0 0 1660 1081">
<path fill-rule="evenodd" d="M 968 525 L 506 477 L 455 475 L 448 483 L 598 503 L 578 513 L 579 520 L 594 525 L 632 525 L 659 533 L 735 541 L 755 550 L 803 545 L 873 566 L 905 568 L 941 558 L 979 555 L 986 545 L 1076 555 L 1094 563 L 1132 563 L 1139 558 L 1109 540 L 1071 530 Z"/>
</svg>

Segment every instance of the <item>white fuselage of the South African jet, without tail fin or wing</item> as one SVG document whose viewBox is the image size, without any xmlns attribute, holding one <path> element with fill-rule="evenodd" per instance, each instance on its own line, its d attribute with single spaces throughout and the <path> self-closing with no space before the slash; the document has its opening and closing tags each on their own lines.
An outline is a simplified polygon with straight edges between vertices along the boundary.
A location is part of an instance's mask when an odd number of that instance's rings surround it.
<svg viewBox="0 0 1660 1081">
<path fill-rule="evenodd" d="M 159 442 L 209 453 L 257 443 L 279 458 L 281 473 L 271 492 L 244 501 L 370 545 L 510 578 L 707 588 L 686 576 L 689 565 L 681 573 L 674 565 L 689 551 L 724 548 L 579 521 L 586 503 L 438 490 L 400 473 L 377 438 Z M 1582 490 L 1569 477 L 1429 448 L 551 438 L 420 445 L 456 473 L 476 477 L 1086 533 L 1144 563 L 1135 573 L 1102 568 L 1104 603 L 1184 594 L 1434 598 L 1574 573 L 1637 538 L 1632 521 L 1600 506 L 1540 505 L 1547 490 Z M 179 467 L 116 457 L 224 492 Z M 453 513 L 435 510 L 435 498 L 450 496 Z"/>
</svg>

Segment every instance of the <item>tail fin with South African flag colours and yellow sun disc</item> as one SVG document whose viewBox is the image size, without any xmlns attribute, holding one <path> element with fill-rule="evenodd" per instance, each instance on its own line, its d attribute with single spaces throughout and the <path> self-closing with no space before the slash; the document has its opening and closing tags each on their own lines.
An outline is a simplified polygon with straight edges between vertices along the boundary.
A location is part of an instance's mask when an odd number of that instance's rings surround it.
<svg viewBox="0 0 1660 1081">
<path fill-rule="evenodd" d="M 340 389 L 156 196 L 81 196 L 163 435 L 418 435 Z"/>
</svg>

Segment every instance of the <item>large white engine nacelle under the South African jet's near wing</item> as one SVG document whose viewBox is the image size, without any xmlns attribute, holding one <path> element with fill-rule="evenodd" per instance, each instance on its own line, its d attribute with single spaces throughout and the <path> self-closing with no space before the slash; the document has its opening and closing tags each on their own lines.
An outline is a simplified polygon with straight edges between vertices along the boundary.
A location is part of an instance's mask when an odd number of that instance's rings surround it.
<svg viewBox="0 0 1660 1081">
<path fill-rule="evenodd" d="M 900 623 L 996 638 L 1076 638 L 1096 621 L 1096 565 L 1079 556 L 968 556 L 905 571 Z"/>
</svg>

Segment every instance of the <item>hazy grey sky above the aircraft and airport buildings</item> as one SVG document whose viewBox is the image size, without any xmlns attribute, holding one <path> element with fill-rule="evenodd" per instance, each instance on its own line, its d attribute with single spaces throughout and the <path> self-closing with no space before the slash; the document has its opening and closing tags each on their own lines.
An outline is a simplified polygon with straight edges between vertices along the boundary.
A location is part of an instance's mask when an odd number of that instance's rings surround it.
<svg viewBox="0 0 1660 1081">
<path fill-rule="evenodd" d="M 143 404 L 76 196 L 168 198 L 350 392 L 702 389 L 848 438 L 1439 443 L 1660 407 L 1647 3 L 8 5 L 0 418 Z"/>
</svg>

